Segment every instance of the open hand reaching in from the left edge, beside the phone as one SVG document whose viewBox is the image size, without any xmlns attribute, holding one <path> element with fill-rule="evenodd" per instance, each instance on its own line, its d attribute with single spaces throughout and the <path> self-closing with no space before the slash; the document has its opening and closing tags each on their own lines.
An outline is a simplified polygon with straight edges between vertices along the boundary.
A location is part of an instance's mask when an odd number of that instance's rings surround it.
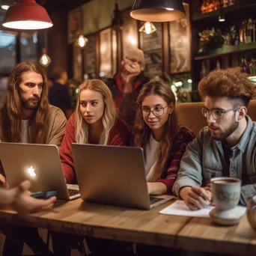
<svg viewBox="0 0 256 256">
<path fill-rule="evenodd" d="M 13 209 L 17 213 L 34 213 L 41 210 L 49 210 L 56 201 L 55 196 L 49 199 L 37 199 L 30 195 L 28 189 L 31 183 L 23 181 L 13 189 L 0 188 L 0 209 Z"/>
</svg>

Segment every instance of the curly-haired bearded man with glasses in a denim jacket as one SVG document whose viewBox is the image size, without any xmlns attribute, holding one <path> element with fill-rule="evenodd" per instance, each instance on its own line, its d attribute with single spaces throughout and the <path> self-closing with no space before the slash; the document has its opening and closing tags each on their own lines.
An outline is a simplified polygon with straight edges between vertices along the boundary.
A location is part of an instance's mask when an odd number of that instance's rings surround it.
<svg viewBox="0 0 256 256">
<path fill-rule="evenodd" d="M 205 97 L 202 114 L 208 127 L 186 148 L 173 192 L 191 210 L 211 201 L 212 177 L 242 180 L 241 202 L 256 193 L 256 124 L 246 115 L 255 85 L 240 68 L 215 70 L 198 85 Z"/>
</svg>

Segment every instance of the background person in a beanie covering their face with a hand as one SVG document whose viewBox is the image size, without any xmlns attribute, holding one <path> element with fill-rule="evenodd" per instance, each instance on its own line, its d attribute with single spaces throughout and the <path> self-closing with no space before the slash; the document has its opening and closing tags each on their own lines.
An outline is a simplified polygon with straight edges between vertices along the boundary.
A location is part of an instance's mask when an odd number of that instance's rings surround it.
<svg viewBox="0 0 256 256">
<path fill-rule="evenodd" d="M 136 113 L 136 100 L 142 86 L 149 82 L 144 76 L 144 53 L 135 46 L 125 49 L 121 70 L 112 79 L 106 81 L 115 100 L 115 106 L 121 112 L 121 118 L 133 126 Z"/>
</svg>

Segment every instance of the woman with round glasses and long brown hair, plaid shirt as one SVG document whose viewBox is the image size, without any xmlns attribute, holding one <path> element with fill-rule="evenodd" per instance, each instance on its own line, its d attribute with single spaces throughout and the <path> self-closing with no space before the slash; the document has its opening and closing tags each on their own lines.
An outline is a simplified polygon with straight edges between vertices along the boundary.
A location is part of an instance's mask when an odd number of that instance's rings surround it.
<svg viewBox="0 0 256 256">
<path fill-rule="evenodd" d="M 180 159 L 193 132 L 177 124 L 174 93 L 161 80 L 148 82 L 138 94 L 134 144 L 144 149 L 147 189 L 151 195 L 171 193 Z"/>
</svg>

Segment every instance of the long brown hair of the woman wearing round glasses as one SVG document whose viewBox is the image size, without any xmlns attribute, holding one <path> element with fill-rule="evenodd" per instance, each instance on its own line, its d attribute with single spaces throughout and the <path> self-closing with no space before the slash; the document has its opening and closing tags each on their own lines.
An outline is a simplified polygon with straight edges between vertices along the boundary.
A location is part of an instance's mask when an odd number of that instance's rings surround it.
<svg viewBox="0 0 256 256">
<path fill-rule="evenodd" d="M 147 95 L 156 94 L 162 97 L 163 100 L 170 106 L 171 103 L 175 105 L 174 93 L 168 85 L 165 85 L 161 80 L 153 80 L 143 86 L 141 92 L 138 94 L 137 103 L 139 109 L 141 104 Z M 168 166 L 171 160 L 171 149 L 174 144 L 174 136 L 177 135 L 178 124 L 177 124 L 177 112 L 174 111 L 168 116 L 168 120 L 164 124 L 164 132 L 162 139 L 159 142 L 159 153 L 156 160 L 156 168 L 153 174 L 152 181 L 159 180 L 162 174 L 168 171 Z M 134 143 L 136 147 L 143 147 L 145 150 L 146 144 L 149 141 L 151 129 L 147 126 L 144 118 L 141 117 L 139 112 L 136 115 L 135 127 L 134 127 Z"/>
</svg>

